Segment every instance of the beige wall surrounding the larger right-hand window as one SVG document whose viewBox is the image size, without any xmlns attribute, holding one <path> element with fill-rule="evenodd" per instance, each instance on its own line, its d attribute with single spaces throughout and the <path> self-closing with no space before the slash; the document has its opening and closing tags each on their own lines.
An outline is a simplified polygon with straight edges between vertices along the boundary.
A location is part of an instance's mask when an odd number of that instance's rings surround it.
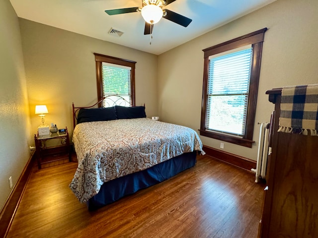
<svg viewBox="0 0 318 238">
<path fill-rule="evenodd" d="M 266 90 L 318 83 L 318 1 L 277 0 L 159 56 L 159 116 L 195 130 L 200 128 L 203 52 L 227 40 L 267 27 L 258 89 L 253 147 L 225 142 L 224 151 L 256 160 L 259 125 L 274 106 Z M 204 145 L 220 148 L 216 139 L 200 136 Z"/>
</svg>

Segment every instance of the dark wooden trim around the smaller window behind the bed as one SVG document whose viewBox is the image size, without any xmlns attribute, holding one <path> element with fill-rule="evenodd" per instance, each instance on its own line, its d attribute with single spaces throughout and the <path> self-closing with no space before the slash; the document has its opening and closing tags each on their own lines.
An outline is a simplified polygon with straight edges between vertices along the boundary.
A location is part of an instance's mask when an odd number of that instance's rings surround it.
<svg viewBox="0 0 318 238">
<path fill-rule="evenodd" d="M 135 101 L 135 66 L 136 66 L 136 61 L 132 60 L 124 60 L 112 56 L 105 56 L 101 54 L 94 53 L 95 55 L 95 61 L 96 61 L 96 84 L 97 84 L 97 100 L 100 101 L 103 98 L 103 88 L 102 88 L 102 62 L 106 63 L 113 63 L 113 64 L 118 64 L 118 65 L 123 65 L 123 66 L 128 66 L 131 68 L 131 81 L 130 81 L 130 86 L 131 86 L 131 104 L 132 106 L 136 106 L 136 101 Z M 102 107 L 102 102 L 98 104 L 98 107 Z"/>
</svg>

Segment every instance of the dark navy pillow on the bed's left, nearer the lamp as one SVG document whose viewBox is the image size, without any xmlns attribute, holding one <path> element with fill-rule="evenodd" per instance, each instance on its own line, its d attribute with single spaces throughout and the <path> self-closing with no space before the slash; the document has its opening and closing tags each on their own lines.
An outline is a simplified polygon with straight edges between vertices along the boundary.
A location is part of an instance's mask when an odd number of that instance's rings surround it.
<svg viewBox="0 0 318 238">
<path fill-rule="evenodd" d="M 78 114 L 78 124 L 89 121 L 115 120 L 115 108 L 81 108 Z"/>
</svg>

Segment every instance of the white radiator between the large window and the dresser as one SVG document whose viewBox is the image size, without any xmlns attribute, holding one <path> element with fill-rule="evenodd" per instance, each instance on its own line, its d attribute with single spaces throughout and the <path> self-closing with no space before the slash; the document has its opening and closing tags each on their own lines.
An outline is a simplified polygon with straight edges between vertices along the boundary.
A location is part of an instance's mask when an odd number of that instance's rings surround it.
<svg viewBox="0 0 318 238">
<path fill-rule="evenodd" d="M 269 154 L 268 125 L 269 123 L 267 122 L 260 123 L 256 169 L 251 169 L 255 173 L 255 182 L 265 179 L 266 176 L 267 157 Z"/>
</svg>

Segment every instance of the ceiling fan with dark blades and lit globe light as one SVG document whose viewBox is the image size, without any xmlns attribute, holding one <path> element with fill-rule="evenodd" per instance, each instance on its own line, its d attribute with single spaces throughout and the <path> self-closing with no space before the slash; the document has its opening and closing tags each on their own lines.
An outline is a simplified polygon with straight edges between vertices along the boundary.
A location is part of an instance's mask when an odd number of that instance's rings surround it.
<svg viewBox="0 0 318 238">
<path fill-rule="evenodd" d="M 173 21 L 181 26 L 187 27 L 192 19 L 182 16 L 176 12 L 162 7 L 174 2 L 175 0 L 142 0 L 142 7 L 128 7 L 120 9 L 105 10 L 108 15 L 117 15 L 130 12 L 141 12 L 146 21 L 144 35 L 153 33 L 154 24 L 159 22 L 161 17 Z"/>
</svg>

